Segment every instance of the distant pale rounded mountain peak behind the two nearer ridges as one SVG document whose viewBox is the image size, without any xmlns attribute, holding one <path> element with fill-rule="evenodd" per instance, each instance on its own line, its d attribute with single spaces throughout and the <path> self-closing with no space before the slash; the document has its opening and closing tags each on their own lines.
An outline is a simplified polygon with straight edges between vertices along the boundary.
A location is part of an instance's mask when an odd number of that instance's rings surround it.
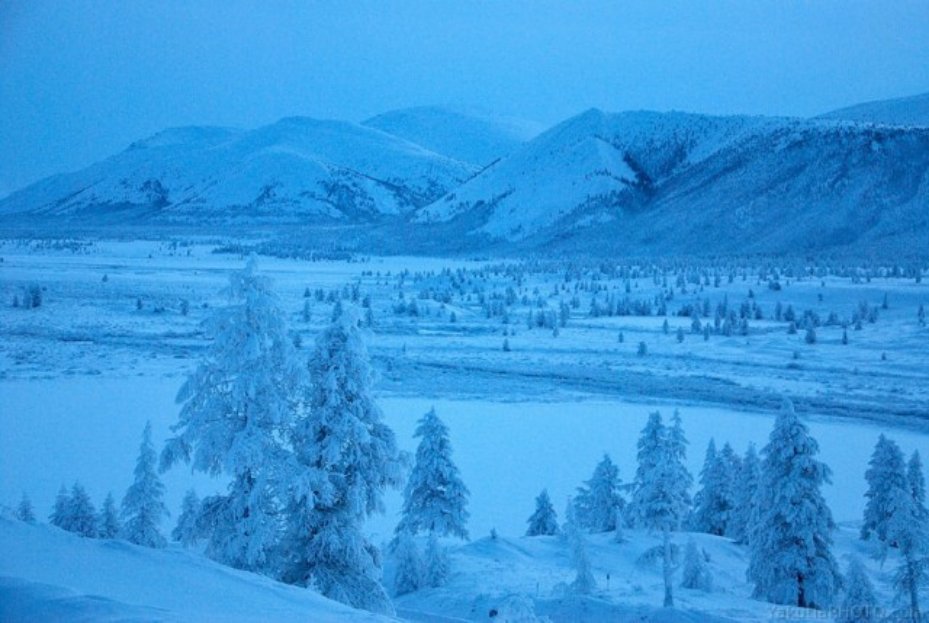
<svg viewBox="0 0 929 623">
<path fill-rule="evenodd" d="M 422 106 L 362 122 L 456 160 L 486 166 L 515 151 L 544 128 L 530 121 Z"/>
</svg>

